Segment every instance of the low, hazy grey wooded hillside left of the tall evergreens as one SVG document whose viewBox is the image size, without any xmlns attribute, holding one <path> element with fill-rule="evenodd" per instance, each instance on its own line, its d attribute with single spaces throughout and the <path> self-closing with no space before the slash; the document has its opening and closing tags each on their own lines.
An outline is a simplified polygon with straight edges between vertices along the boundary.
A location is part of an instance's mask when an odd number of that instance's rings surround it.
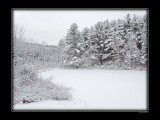
<svg viewBox="0 0 160 120">
<path fill-rule="evenodd" d="M 36 43 L 16 41 L 13 44 L 13 58 L 15 65 L 33 63 L 37 66 L 57 66 L 60 49 L 55 45 L 41 45 Z"/>
</svg>

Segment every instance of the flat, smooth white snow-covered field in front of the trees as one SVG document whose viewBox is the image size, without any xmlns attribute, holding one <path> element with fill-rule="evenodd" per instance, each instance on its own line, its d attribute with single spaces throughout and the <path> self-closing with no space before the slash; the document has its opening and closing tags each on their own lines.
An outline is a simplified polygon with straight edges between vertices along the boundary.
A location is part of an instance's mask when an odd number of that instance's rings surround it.
<svg viewBox="0 0 160 120">
<path fill-rule="evenodd" d="M 51 69 L 40 73 L 53 83 L 71 88 L 70 101 L 14 105 L 19 109 L 146 109 L 147 72 L 133 70 Z"/>
</svg>

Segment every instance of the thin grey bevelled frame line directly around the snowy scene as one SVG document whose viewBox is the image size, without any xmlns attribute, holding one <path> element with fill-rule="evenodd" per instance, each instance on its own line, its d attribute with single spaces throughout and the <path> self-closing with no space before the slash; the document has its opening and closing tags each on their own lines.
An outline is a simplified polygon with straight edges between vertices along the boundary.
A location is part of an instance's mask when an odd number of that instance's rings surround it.
<svg viewBox="0 0 160 120">
<path fill-rule="evenodd" d="M 148 21 L 148 23 L 147 23 L 147 33 L 149 33 L 149 9 L 148 8 L 12 8 L 11 9 L 11 15 L 12 15 L 12 17 L 11 17 L 11 30 L 13 31 L 13 11 L 14 10 L 42 10 L 42 11 L 48 11 L 48 10 L 84 10 L 84 11 L 86 11 L 86 10 L 124 10 L 124 11 L 127 11 L 127 10 L 146 10 L 146 12 L 147 12 L 147 21 Z M 11 39 L 13 39 L 12 38 L 12 33 L 11 33 Z M 13 40 L 11 40 L 11 43 L 12 43 L 12 41 Z M 147 42 L 149 41 L 149 34 L 147 34 Z M 13 49 L 13 43 L 12 43 L 12 49 Z M 149 47 L 149 43 L 148 43 L 148 47 Z M 13 54 L 12 54 L 13 55 Z M 12 61 L 12 59 L 11 59 L 11 61 Z M 149 61 L 149 51 L 148 51 L 148 61 Z M 12 61 L 13 62 L 13 61 Z M 12 65 L 13 65 L 13 63 L 12 63 Z M 147 66 L 147 109 L 146 110 L 140 110 L 140 109 L 135 109 L 135 110 L 130 110 L 130 109 L 126 109 L 126 110 L 114 110 L 114 109 L 112 109 L 112 110 L 109 110 L 109 109 L 91 109 L 91 110 L 86 110 L 86 109 L 69 109 L 69 110 L 66 110 L 66 109 L 61 109 L 61 110 L 59 110 L 59 109 L 53 109 L 53 110 L 40 110 L 40 109 L 38 109 L 38 110 L 14 110 L 13 109 L 13 91 L 12 91 L 12 89 L 13 89 L 13 79 L 11 79 L 12 80 L 12 84 L 11 84 L 11 108 L 12 108 L 12 111 L 13 112 L 36 112 L 36 111 L 39 111 L 39 112 L 66 112 L 66 111 L 69 111 L 69 112 L 81 112 L 81 111 L 83 111 L 83 112 L 138 112 L 138 113 L 147 113 L 148 111 L 149 111 L 149 64 L 147 64 L 148 66 Z M 12 76 L 13 76 L 13 66 L 12 66 Z M 13 77 L 12 77 L 13 78 Z"/>
</svg>

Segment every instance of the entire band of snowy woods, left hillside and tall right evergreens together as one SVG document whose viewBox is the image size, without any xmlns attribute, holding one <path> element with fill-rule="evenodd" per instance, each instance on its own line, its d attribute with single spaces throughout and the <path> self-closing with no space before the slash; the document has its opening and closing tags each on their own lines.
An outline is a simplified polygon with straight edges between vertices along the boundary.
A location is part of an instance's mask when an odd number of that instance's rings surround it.
<svg viewBox="0 0 160 120">
<path fill-rule="evenodd" d="M 56 45 L 25 42 L 24 29 L 14 27 L 14 65 L 42 67 L 135 69 L 147 66 L 147 16 L 97 22 L 78 30 L 73 23 Z"/>
</svg>

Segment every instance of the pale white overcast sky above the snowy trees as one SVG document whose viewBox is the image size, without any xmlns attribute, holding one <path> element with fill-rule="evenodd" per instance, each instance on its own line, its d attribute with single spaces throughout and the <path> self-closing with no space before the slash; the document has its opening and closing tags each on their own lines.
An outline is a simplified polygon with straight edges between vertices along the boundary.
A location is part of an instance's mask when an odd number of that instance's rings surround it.
<svg viewBox="0 0 160 120">
<path fill-rule="evenodd" d="M 13 24 L 23 26 L 31 42 L 57 45 L 72 23 L 79 30 L 91 27 L 99 21 L 124 18 L 127 13 L 144 15 L 145 10 L 14 10 Z"/>
</svg>

